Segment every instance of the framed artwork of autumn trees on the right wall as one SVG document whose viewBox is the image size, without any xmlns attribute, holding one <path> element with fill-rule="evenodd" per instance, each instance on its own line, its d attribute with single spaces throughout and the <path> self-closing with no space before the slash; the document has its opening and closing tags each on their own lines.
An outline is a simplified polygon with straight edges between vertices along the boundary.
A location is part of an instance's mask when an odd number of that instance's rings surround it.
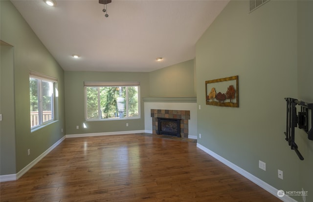
<svg viewBox="0 0 313 202">
<path fill-rule="evenodd" d="M 205 81 L 206 104 L 239 107 L 238 76 Z"/>
</svg>

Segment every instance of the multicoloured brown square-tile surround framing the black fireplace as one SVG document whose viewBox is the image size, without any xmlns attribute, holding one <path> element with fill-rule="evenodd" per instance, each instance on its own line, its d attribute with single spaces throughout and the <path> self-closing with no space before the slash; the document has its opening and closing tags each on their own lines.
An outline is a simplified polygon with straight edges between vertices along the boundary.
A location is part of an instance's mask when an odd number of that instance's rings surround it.
<svg viewBox="0 0 313 202">
<path fill-rule="evenodd" d="M 157 118 L 180 119 L 180 137 L 188 138 L 189 110 L 151 109 L 152 133 L 157 134 Z"/>
</svg>

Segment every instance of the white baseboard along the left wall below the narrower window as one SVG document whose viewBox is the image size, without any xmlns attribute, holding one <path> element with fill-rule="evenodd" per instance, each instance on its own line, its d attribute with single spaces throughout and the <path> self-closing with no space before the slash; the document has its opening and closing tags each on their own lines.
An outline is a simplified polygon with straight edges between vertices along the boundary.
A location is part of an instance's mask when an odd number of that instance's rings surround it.
<svg viewBox="0 0 313 202">
<path fill-rule="evenodd" d="M 60 140 L 55 142 L 52 146 L 50 146 L 47 150 L 45 150 L 44 153 L 42 153 L 40 156 L 38 156 L 34 161 L 30 162 L 28 165 L 22 168 L 17 174 L 10 174 L 10 175 L 1 175 L 0 176 L 0 182 L 6 182 L 6 181 L 14 181 L 18 180 L 22 177 L 30 168 L 32 168 L 36 163 L 38 163 L 40 160 L 42 160 L 50 151 L 52 151 L 56 146 L 58 146 L 62 141 L 65 140 L 65 136 L 63 136 Z"/>
</svg>

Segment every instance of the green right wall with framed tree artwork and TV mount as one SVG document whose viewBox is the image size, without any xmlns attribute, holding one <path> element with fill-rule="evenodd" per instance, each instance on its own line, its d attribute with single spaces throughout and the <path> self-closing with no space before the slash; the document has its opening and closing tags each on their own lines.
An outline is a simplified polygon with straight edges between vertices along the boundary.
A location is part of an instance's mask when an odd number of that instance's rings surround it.
<svg viewBox="0 0 313 202">
<path fill-rule="evenodd" d="M 311 34 L 298 44 L 298 20 L 306 20 L 299 29 L 304 34 L 312 19 L 312 2 L 306 4 L 298 8 L 297 1 L 271 0 L 251 13 L 249 1 L 232 0 L 226 5 L 196 44 L 197 101 L 201 105 L 197 130 L 202 136 L 198 143 L 204 147 L 276 189 L 303 188 L 309 193 L 306 201 L 313 201 L 312 180 L 308 180 L 312 178 L 313 141 L 296 131 L 305 158 L 300 161 L 283 133 L 284 98 L 297 98 L 299 91 L 299 98 L 313 101 L 312 21 Z M 310 47 L 303 47 L 306 41 Z M 297 68 L 303 53 L 306 61 Z M 239 76 L 239 108 L 205 105 L 205 81 L 235 75 Z M 266 162 L 266 171 L 258 168 L 259 160 Z M 284 180 L 277 177 L 277 169 L 284 172 Z"/>
</svg>

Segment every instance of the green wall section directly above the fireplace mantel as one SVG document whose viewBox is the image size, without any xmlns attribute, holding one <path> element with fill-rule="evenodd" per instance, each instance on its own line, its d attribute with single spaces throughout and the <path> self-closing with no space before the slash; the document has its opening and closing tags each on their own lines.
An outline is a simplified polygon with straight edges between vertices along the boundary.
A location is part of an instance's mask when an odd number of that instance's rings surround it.
<svg viewBox="0 0 313 202">
<path fill-rule="evenodd" d="M 149 73 L 150 97 L 196 97 L 194 60 Z"/>
</svg>

